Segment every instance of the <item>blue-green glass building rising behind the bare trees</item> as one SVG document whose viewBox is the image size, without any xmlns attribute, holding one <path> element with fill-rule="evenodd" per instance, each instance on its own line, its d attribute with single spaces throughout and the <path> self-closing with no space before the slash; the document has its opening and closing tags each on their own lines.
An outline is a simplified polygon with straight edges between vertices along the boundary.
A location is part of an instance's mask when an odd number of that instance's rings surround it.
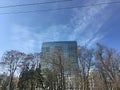
<svg viewBox="0 0 120 90">
<path fill-rule="evenodd" d="M 63 67 L 66 68 L 66 74 L 71 74 L 78 68 L 76 41 L 44 42 L 42 44 L 41 54 L 41 67 L 46 67 L 44 63 L 45 59 L 50 61 L 51 57 L 53 58 L 57 55 L 60 56 Z M 47 64 L 47 66 L 50 68 L 50 65 Z"/>
</svg>

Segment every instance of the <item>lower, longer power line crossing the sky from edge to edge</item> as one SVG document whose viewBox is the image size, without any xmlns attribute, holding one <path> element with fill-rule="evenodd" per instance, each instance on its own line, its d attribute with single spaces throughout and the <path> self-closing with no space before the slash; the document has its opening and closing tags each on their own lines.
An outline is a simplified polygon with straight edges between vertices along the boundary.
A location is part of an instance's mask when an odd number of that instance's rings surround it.
<svg viewBox="0 0 120 90">
<path fill-rule="evenodd" d="M 0 14 L 23 14 L 23 13 L 34 13 L 34 12 L 50 12 L 50 11 L 58 11 L 58 10 L 93 7 L 93 6 L 106 5 L 106 4 L 109 4 L 109 5 L 120 4 L 120 2 L 106 2 L 106 3 L 103 2 L 103 3 L 89 4 L 89 5 L 83 5 L 83 6 L 63 7 L 63 8 L 56 8 L 56 9 L 41 9 L 41 10 L 33 10 L 33 11 L 6 12 L 6 13 L 0 13 Z"/>
</svg>

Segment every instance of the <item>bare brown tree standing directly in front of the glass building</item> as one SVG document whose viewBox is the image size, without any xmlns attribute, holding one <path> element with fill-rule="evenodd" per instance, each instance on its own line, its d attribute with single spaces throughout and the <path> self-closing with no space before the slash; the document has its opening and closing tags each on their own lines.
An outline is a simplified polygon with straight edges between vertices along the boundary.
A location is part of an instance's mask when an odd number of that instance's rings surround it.
<svg viewBox="0 0 120 90">
<path fill-rule="evenodd" d="M 64 77 L 64 56 L 62 51 L 53 50 L 50 55 L 42 57 L 45 63 L 48 65 L 45 70 L 49 71 L 45 73 L 47 78 L 51 82 L 50 90 L 65 90 L 65 77 Z M 51 78 L 49 78 L 51 77 Z M 48 82 L 48 81 L 47 81 Z"/>
</svg>

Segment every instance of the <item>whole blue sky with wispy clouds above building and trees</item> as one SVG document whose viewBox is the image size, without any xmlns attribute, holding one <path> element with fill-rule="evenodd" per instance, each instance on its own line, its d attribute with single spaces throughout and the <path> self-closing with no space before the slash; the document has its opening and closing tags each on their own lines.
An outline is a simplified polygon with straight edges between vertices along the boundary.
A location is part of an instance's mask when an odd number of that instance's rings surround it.
<svg viewBox="0 0 120 90">
<path fill-rule="evenodd" d="M 0 6 L 50 0 L 1 0 Z M 52 0 L 51 0 L 52 1 Z M 0 8 L 0 13 L 55 9 L 120 0 L 73 0 L 28 7 Z M 120 50 L 120 4 L 26 14 L 0 14 L 0 54 L 7 50 L 40 52 L 45 41 L 76 40 L 93 47 L 99 42 Z"/>
</svg>

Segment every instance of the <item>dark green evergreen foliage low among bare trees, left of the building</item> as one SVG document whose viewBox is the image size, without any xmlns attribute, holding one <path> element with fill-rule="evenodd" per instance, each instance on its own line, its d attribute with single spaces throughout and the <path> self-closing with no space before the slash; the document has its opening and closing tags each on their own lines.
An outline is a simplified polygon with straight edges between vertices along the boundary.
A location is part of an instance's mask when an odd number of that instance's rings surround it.
<svg viewBox="0 0 120 90">
<path fill-rule="evenodd" d="M 35 88 L 43 88 L 44 78 L 41 74 L 41 67 L 39 65 L 38 68 L 34 68 L 34 65 L 32 65 L 31 69 L 26 67 L 26 69 L 21 72 L 18 83 L 19 90 L 35 90 Z"/>
</svg>

